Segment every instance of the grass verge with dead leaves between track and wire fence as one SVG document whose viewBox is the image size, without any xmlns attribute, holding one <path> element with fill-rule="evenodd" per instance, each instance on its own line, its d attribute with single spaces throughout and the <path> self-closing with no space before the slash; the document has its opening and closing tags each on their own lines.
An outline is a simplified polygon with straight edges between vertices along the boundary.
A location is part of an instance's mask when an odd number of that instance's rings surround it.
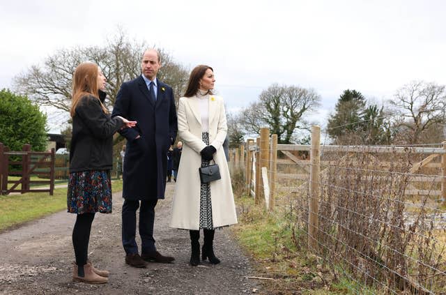
<svg viewBox="0 0 446 295">
<path fill-rule="evenodd" d="M 254 260 L 262 294 L 374 294 L 355 282 L 335 281 L 321 257 L 307 252 L 307 235 L 293 230 L 286 213 L 267 213 L 252 197 L 236 198 L 239 223 L 231 227 L 238 243 Z"/>
</svg>

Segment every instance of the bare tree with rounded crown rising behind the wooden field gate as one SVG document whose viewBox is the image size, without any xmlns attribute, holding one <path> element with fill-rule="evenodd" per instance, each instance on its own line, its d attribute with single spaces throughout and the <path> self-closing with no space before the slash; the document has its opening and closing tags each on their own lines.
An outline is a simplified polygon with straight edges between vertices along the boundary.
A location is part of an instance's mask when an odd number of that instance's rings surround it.
<svg viewBox="0 0 446 295">
<path fill-rule="evenodd" d="M 314 89 L 272 84 L 259 101 L 243 109 L 241 121 L 247 133 L 259 134 L 260 128 L 268 127 L 279 143 L 290 144 L 296 129 L 307 129 L 305 114 L 316 109 L 320 100 Z"/>
</svg>

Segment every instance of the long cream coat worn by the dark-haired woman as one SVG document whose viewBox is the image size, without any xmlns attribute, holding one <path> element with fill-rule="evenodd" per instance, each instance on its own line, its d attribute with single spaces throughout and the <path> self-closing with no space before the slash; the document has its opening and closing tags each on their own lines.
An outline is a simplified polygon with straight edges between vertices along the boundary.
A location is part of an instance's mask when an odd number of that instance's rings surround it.
<svg viewBox="0 0 446 295">
<path fill-rule="evenodd" d="M 200 151 L 206 147 L 201 139 L 201 114 L 198 98 L 180 98 L 178 106 L 178 135 L 183 139 L 183 152 L 172 205 L 170 227 L 199 229 L 200 220 Z M 237 223 L 231 176 L 224 156 L 226 114 L 223 99 L 209 96 L 209 143 L 217 152 L 214 160 L 220 167 L 222 179 L 210 182 L 213 226 L 222 227 Z"/>
</svg>

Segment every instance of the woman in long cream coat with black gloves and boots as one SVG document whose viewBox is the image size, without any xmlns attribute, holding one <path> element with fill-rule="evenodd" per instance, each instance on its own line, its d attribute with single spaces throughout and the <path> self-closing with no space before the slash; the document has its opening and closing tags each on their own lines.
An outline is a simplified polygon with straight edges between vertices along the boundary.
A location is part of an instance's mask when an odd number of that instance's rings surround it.
<svg viewBox="0 0 446 295">
<path fill-rule="evenodd" d="M 214 96 L 213 68 L 197 66 L 190 74 L 185 97 L 178 106 L 178 135 L 183 140 L 170 227 L 189 229 L 190 264 L 200 262 L 199 230 L 203 229 L 202 259 L 220 263 L 213 252 L 215 229 L 237 223 L 228 164 L 222 144 L 226 138 L 224 102 Z M 201 183 L 199 167 L 214 160 L 221 179 Z"/>
</svg>

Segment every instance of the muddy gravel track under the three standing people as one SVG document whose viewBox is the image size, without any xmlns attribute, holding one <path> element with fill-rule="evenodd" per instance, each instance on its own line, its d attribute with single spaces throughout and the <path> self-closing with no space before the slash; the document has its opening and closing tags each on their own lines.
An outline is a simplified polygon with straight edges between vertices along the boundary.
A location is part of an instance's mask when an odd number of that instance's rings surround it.
<svg viewBox="0 0 446 295">
<path fill-rule="evenodd" d="M 96 214 L 89 246 L 93 264 L 111 271 L 109 283 L 72 282 L 75 215 L 62 211 L 0 234 L 0 294 L 263 293 L 259 281 L 246 278 L 256 273 L 228 228 L 215 233 L 215 254 L 222 264 L 189 266 L 189 233 L 167 226 L 173 192 L 174 183 L 168 183 L 166 199 L 157 204 L 155 239 L 162 254 L 176 257 L 174 264 L 151 263 L 147 268 L 125 264 L 121 245 L 123 199 L 118 192 L 113 195 L 113 213 Z"/>
</svg>

